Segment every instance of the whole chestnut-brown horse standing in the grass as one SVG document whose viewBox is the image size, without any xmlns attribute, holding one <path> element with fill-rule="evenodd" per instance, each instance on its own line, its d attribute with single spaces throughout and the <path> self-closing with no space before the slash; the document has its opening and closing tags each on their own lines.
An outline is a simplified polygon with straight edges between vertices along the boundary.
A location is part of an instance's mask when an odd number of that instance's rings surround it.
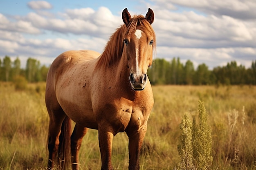
<svg viewBox="0 0 256 170">
<path fill-rule="evenodd" d="M 126 132 L 129 138 L 129 170 L 139 170 L 139 151 L 154 103 L 146 75 L 155 49 L 154 13 L 148 9 L 146 17 L 131 18 L 124 9 L 122 18 L 124 25 L 110 37 L 101 55 L 67 51 L 49 69 L 45 94 L 49 169 L 58 158 L 58 166 L 64 169 L 71 159 L 72 169 L 78 170 L 79 148 L 92 128 L 99 131 L 101 170 L 113 169 L 112 139 L 118 132 Z M 72 135 L 70 119 L 76 123 Z"/>
</svg>

